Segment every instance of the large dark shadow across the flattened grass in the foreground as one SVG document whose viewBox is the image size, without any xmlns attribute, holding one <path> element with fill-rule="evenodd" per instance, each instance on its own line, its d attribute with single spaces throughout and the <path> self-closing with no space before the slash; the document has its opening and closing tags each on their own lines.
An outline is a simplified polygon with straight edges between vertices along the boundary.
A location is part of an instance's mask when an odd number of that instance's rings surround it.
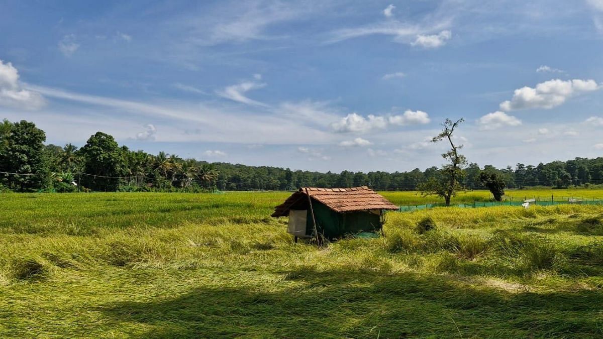
<svg viewBox="0 0 603 339">
<path fill-rule="evenodd" d="M 141 337 L 600 337 L 603 295 L 511 293 L 442 276 L 276 272 L 274 285 L 197 287 L 178 297 L 106 305 Z"/>
</svg>

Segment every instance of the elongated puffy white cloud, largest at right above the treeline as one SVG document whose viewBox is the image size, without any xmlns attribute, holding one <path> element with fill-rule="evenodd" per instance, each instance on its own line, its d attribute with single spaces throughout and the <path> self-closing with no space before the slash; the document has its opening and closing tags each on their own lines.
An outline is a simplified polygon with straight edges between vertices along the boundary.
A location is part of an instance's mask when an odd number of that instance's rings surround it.
<svg viewBox="0 0 603 339">
<path fill-rule="evenodd" d="M 551 109 L 560 106 L 572 95 L 599 88 L 601 86 L 595 80 L 549 80 L 537 84 L 535 88 L 526 86 L 516 89 L 511 100 L 500 103 L 500 110 Z"/>
</svg>

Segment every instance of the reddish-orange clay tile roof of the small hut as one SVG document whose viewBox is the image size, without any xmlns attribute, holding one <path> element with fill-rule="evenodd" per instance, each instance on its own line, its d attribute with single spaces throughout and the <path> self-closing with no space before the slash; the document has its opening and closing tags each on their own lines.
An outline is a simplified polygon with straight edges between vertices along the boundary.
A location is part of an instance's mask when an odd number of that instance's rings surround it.
<svg viewBox="0 0 603 339">
<path fill-rule="evenodd" d="M 284 203 L 274 208 L 273 217 L 289 215 L 289 209 L 306 209 L 308 195 L 315 201 L 323 203 L 335 212 L 366 211 L 368 209 L 398 209 L 382 195 L 367 186 L 353 188 L 311 188 L 303 187 L 287 198 Z M 301 206 L 305 206 L 302 208 Z M 299 208 L 294 208 L 299 207 Z"/>
</svg>

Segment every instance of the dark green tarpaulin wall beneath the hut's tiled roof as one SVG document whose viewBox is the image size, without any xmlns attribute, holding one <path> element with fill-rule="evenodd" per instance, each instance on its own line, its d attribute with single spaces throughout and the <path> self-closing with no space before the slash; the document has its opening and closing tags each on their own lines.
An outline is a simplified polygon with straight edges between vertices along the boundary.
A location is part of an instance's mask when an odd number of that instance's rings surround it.
<svg viewBox="0 0 603 339">
<path fill-rule="evenodd" d="M 346 234 L 373 232 L 381 229 L 381 217 L 368 211 L 338 213 L 318 201 L 312 200 L 318 233 L 326 238 L 338 238 Z M 306 235 L 312 235 L 314 224 L 312 212 L 308 209 Z"/>
</svg>

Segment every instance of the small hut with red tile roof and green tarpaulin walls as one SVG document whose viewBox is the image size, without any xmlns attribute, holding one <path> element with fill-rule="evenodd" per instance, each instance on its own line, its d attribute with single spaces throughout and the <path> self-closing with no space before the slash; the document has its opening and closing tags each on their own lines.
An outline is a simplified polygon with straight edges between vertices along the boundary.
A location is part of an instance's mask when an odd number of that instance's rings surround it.
<svg viewBox="0 0 603 339">
<path fill-rule="evenodd" d="M 353 188 L 303 187 L 276 206 L 272 217 L 289 217 L 288 233 L 312 238 L 314 227 L 324 238 L 374 232 L 383 226 L 384 210 L 398 209 L 367 186 Z"/>
</svg>

